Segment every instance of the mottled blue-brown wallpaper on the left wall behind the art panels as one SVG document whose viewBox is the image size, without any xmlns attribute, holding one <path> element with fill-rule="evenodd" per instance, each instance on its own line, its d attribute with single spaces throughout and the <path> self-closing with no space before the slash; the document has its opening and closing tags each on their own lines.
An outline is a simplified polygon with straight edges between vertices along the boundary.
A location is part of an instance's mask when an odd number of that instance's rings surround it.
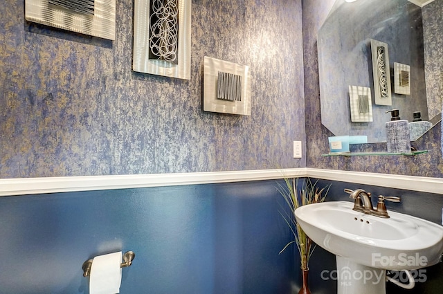
<svg viewBox="0 0 443 294">
<path fill-rule="evenodd" d="M 305 167 L 301 1 L 192 1 L 191 79 L 132 72 L 134 1 L 116 41 L 0 7 L 0 177 Z M 204 56 L 251 68 L 251 116 L 201 110 Z"/>
</svg>

